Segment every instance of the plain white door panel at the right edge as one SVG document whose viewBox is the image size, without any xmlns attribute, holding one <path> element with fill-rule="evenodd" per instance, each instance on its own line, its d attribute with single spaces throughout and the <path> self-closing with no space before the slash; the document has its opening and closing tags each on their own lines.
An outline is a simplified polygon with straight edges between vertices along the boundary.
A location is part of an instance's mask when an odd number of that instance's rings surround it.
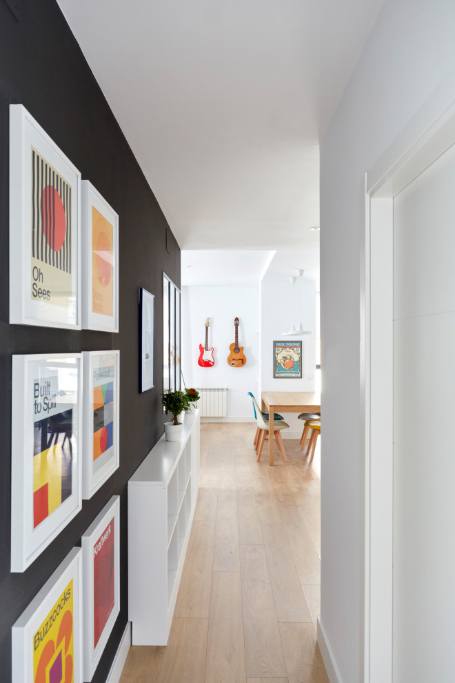
<svg viewBox="0 0 455 683">
<path fill-rule="evenodd" d="M 393 681 L 455 681 L 455 147 L 394 197 Z"/>
</svg>

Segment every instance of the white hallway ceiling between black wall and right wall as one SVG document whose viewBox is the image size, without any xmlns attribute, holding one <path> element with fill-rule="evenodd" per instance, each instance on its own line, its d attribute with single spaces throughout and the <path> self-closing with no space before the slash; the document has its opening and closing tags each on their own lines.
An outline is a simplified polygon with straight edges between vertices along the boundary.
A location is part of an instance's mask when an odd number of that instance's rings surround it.
<svg viewBox="0 0 455 683">
<path fill-rule="evenodd" d="M 181 248 L 312 248 L 319 140 L 384 0 L 58 0 Z"/>
</svg>

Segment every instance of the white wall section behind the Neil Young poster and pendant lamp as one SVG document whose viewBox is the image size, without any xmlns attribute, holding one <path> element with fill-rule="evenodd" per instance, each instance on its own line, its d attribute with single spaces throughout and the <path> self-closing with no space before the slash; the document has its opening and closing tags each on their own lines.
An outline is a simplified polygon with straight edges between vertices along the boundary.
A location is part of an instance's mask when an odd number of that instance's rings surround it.
<svg viewBox="0 0 455 683">
<path fill-rule="evenodd" d="M 261 391 L 314 391 L 316 369 L 316 283 L 301 279 L 294 285 L 295 319 L 311 335 L 283 337 L 292 324 L 292 288 L 289 281 L 263 281 L 261 284 Z M 299 310 L 298 310 L 299 308 Z M 274 341 L 302 342 L 302 378 L 274 379 Z M 290 428 L 282 432 L 283 438 L 301 437 L 303 422 L 296 413 L 283 414 Z"/>
</svg>

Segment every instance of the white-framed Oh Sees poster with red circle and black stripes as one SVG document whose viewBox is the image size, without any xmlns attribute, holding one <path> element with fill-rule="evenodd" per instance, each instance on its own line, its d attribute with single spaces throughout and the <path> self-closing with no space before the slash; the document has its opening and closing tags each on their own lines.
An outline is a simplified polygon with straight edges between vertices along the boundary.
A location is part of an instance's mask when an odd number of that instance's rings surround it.
<svg viewBox="0 0 455 683">
<path fill-rule="evenodd" d="M 10 323 L 81 329 L 81 174 L 10 105 Z"/>
</svg>

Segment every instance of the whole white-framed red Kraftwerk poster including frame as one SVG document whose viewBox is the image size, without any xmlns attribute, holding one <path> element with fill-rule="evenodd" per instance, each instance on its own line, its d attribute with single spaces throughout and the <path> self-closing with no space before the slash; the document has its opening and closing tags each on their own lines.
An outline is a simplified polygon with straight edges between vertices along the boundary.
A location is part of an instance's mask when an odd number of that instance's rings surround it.
<svg viewBox="0 0 455 683">
<path fill-rule="evenodd" d="M 82 537 L 83 680 L 90 682 L 120 611 L 120 496 Z"/>
</svg>

